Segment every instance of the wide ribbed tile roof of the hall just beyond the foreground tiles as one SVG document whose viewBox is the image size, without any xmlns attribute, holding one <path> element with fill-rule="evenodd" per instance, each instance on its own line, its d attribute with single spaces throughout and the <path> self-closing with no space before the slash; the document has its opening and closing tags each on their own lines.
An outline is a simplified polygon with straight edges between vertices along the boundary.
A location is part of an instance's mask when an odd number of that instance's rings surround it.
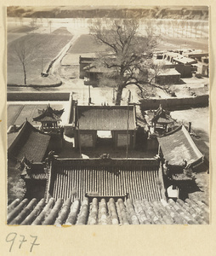
<svg viewBox="0 0 216 256">
<path fill-rule="evenodd" d="M 48 194 L 55 200 L 77 195 L 81 200 L 86 193 L 101 196 L 122 196 L 128 193 L 131 199 L 146 198 L 149 201 L 163 198 L 162 186 L 158 182 L 162 177 L 159 165 L 154 166 L 108 166 L 55 165 L 51 169 Z"/>
</svg>

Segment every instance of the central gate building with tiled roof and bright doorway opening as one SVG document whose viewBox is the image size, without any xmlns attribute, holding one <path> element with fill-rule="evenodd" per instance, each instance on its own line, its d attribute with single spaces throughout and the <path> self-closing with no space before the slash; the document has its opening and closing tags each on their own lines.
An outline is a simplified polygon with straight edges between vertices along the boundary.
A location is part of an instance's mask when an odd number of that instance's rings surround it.
<svg viewBox="0 0 216 256">
<path fill-rule="evenodd" d="M 136 114 L 134 106 L 77 106 L 75 147 L 96 147 L 99 131 L 110 131 L 115 148 L 135 147 Z M 103 140 L 103 139 L 102 139 Z M 127 143 L 128 140 L 128 143 Z"/>
</svg>

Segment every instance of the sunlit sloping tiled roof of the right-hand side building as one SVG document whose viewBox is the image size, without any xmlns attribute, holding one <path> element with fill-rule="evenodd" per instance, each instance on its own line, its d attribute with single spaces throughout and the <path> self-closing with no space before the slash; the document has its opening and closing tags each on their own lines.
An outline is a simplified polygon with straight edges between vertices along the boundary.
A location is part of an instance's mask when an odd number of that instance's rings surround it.
<svg viewBox="0 0 216 256">
<path fill-rule="evenodd" d="M 203 157 L 184 125 L 162 137 L 157 137 L 157 140 L 169 165 L 181 165 L 183 160 L 191 165 Z"/>
</svg>

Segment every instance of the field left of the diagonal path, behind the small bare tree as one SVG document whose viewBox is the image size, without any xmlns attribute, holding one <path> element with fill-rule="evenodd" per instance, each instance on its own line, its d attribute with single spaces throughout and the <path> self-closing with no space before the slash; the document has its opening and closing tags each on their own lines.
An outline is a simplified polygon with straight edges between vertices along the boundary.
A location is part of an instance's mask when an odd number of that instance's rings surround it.
<svg viewBox="0 0 216 256">
<path fill-rule="evenodd" d="M 71 33 L 65 33 L 65 29 L 62 28 L 50 34 L 30 33 L 10 42 L 8 44 L 8 84 L 24 84 L 22 66 L 14 54 L 14 45 L 25 42 L 26 54 L 31 59 L 26 65 L 27 84 L 42 84 L 41 72 L 46 71 L 48 63 L 59 54 L 71 38 Z"/>
</svg>

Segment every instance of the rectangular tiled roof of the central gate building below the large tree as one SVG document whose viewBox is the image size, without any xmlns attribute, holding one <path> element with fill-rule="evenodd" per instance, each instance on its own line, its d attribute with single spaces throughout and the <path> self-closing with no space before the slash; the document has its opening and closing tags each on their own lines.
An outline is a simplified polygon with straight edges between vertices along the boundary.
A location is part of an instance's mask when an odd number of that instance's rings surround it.
<svg viewBox="0 0 216 256">
<path fill-rule="evenodd" d="M 77 108 L 80 130 L 127 131 L 136 128 L 134 106 L 78 106 Z"/>
</svg>

